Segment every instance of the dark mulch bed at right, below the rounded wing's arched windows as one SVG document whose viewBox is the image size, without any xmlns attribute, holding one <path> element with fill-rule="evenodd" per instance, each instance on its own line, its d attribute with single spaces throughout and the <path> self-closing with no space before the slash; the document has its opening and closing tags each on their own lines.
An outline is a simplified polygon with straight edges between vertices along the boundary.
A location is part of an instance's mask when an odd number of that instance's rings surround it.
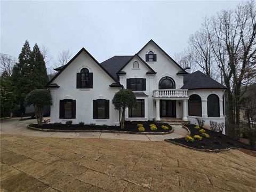
<svg viewBox="0 0 256 192">
<path fill-rule="evenodd" d="M 194 135 L 201 135 L 199 133 L 199 129 L 195 129 L 195 125 L 186 125 L 190 132 L 191 136 L 193 137 Z M 242 142 L 239 142 L 237 140 L 231 139 L 227 137 L 227 135 L 224 135 L 222 133 L 217 133 L 213 132 L 210 130 L 205 129 L 205 132 L 210 135 L 210 138 L 204 138 L 199 141 L 196 140 L 194 142 L 186 141 L 185 138 L 180 138 L 180 139 L 172 139 L 171 141 L 180 143 L 182 145 L 188 146 L 188 147 L 193 147 L 196 149 L 210 149 L 210 150 L 215 150 L 215 149 L 228 149 L 228 148 L 244 148 L 244 149 L 249 149 L 253 150 L 250 148 L 250 146 L 245 145 Z M 255 149 L 254 149 L 255 150 Z"/>
</svg>

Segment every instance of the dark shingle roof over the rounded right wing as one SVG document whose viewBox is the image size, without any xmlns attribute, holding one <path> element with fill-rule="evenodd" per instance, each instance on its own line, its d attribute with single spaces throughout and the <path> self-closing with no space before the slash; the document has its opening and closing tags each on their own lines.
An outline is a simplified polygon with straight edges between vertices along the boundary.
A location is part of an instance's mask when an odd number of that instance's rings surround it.
<svg viewBox="0 0 256 192">
<path fill-rule="evenodd" d="M 184 75 L 183 82 L 184 85 L 181 89 L 226 89 L 224 85 L 221 85 L 219 82 L 203 74 L 199 70 L 194 73 Z"/>
</svg>

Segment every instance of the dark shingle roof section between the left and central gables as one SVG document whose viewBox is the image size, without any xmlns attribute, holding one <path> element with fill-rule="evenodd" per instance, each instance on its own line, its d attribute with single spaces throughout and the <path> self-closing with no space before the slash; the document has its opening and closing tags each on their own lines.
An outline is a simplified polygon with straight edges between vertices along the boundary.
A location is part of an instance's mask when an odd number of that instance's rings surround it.
<svg viewBox="0 0 256 192">
<path fill-rule="evenodd" d="M 116 73 L 122 69 L 122 67 L 133 57 L 133 55 L 126 56 L 114 56 L 110 59 L 103 61 L 100 63 L 102 67 L 104 67 L 108 73 L 110 73 L 113 77 L 118 81 L 118 77 Z"/>
</svg>

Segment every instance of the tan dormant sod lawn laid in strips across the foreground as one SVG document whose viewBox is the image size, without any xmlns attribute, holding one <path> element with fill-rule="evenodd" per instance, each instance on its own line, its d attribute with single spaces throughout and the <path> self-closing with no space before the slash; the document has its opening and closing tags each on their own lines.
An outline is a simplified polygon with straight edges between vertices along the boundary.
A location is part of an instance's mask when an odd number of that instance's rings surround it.
<svg viewBox="0 0 256 192">
<path fill-rule="evenodd" d="M 256 158 L 164 141 L 1 135 L 1 191 L 256 191 Z"/>
</svg>

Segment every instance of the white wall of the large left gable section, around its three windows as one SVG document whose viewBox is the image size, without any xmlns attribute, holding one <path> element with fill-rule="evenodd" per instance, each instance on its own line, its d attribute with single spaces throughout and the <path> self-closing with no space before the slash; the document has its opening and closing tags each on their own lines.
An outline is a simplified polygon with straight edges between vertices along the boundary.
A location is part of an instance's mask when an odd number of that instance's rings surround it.
<svg viewBox="0 0 256 192">
<path fill-rule="evenodd" d="M 87 68 L 90 73 L 93 73 L 92 89 L 76 89 L 76 74 L 79 73 L 82 68 Z M 119 88 L 109 87 L 111 83 L 114 83 L 114 80 L 85 52 L 79 54 L 52 83 L 57 83 L 60 86 L 59 88 L 51 88 L 53 98 L 53 105 L 51 106 L 52 123 L 66 123 L 71 120 L 73 124 L 84 122 L 86 124 L 119 125 L 118 111 L 114 109 L 114 105 L 111 103 L 114 94 L 119 91 Z M 60 100 L 62 99 L 76 100 L 75 119 L 59 118 Z M 109 100 L 109 119 L 93 119 L 93 100 L 95 99 Z"/>
</svg>

